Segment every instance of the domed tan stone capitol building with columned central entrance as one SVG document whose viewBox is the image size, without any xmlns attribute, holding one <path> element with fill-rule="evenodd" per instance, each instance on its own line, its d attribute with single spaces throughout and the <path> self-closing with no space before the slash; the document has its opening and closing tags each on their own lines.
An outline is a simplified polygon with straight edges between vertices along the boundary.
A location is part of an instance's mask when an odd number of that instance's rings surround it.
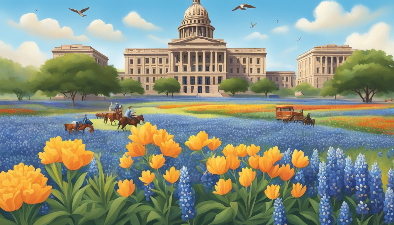
<svg viewBox="0 0 394 225">
<path fill-rule="evenodd" d="M 295 86 L 295 72 L 266 72 L 266 48 L 227 48 L 214 38 L 215 28 L 200 0 L 186 9 L 178 38 L 167 48 L 126 48 L 125 73 L 119 79 L 141 82 L 145 94 L 155 80 L 173 77 L 180 83 L 180 95 L 227 96 L 219 90 L 223 80 L 239 77 L 250 84 L 269 78 L 279 88 Z"/>
</svg>

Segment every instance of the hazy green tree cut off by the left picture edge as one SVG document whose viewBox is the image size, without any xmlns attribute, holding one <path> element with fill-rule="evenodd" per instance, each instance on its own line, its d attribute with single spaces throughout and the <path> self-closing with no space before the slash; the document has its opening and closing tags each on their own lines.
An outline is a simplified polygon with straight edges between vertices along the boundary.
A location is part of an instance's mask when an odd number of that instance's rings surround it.
<svg viewBox="0 0 394 225">
<path fill-rule="evenodd" d="M 0 57 L 0 94 L 15 94 L 18 100 L 34 95 L 29 79 L 36 72 L 34 66 L 22 67 L 19 63 Z"/>
</svg>

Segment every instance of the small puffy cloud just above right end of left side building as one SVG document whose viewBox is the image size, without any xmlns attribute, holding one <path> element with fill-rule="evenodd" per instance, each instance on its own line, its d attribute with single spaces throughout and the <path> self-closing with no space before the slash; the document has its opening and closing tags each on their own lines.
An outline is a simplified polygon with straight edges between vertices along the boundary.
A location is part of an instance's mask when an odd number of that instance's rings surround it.
<svg viewBox="0 0 394 225">
<path fill-rule="evenodd" d="M 86 30 L 90 35 L 106 41 L 122 41 L 124 39 L 120 30 L 113 30 L 112 24 L 106 24 L 102 20 L 93 20 Z"/>
</svg>

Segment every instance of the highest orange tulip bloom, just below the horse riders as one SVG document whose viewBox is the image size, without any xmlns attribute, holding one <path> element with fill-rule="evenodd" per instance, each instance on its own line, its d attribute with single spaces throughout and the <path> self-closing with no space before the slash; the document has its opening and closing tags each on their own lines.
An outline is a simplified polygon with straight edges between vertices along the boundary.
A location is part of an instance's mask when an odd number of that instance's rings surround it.
<svg viewBox="0 0 394 225">
<path fill-rule="evenodd" d="M 133 126 L 131 128 L 131 135 L 128 138 L 141 145 L 147 145 L 153 142 L 154 134 L 159 134 L 156 125 L 152 126 L 151 123 L 147 122 L 139 130 Z"/>
</svg>

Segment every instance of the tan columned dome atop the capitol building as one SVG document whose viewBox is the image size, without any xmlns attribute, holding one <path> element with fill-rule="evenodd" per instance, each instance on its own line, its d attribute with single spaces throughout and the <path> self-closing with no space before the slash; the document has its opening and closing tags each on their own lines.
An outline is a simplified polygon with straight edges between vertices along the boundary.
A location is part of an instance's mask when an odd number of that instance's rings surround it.
<svg viewBox="0 0 394 225">
<path fill-rule="evenodd" d="M 179 38 L 194 36 L 214 38 L 214 30 L 208 11 L 201 5 L 200 0 L 193 0 L 193 4 L 185 11 L 182 25 L 178 28 Z"/>
</svg>

